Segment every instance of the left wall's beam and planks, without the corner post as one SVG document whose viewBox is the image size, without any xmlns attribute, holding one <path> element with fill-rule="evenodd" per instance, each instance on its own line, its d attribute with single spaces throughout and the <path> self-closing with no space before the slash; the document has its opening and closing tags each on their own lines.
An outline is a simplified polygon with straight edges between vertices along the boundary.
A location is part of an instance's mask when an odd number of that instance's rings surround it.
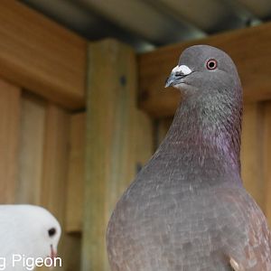
<svg viewBox="0 0 271 271">
<path fill-rule="evenodd" d="M 84 118 L 73 111 L 85 110 L 87 42 L 14 0 L 1 1 L 0 34 L 0 202 L 50 210 L 63 232 L 56 270 L 79 270 L 71 220 L 82 205 L 70 191 L 84 181 Z"/>
</svg>

